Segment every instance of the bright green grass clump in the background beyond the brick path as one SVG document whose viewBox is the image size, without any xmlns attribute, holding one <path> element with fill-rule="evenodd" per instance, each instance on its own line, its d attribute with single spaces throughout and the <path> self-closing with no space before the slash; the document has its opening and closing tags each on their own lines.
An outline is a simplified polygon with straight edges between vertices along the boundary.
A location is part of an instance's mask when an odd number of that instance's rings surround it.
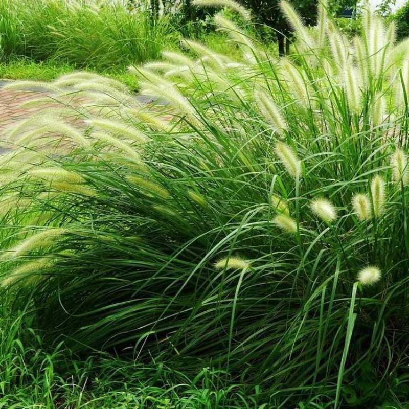
<svg viewBox="0 0 409 409">
<path fill-rule="evenodd" d="M 154 17 L 121 2 L 1 0 L 0 60 L 26 56 L 78 67 L 126 66 L 160 56 L 177 36 L 172 14 Z"/>
</svg>

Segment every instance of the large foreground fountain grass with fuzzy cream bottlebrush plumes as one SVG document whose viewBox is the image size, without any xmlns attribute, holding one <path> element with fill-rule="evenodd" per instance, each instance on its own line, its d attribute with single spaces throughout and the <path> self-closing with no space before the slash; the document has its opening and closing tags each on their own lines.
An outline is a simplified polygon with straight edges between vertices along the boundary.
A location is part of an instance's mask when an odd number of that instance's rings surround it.
<svg viewBox="0 0 409 409">
<path fill-rule="evenodd" d="M 254 407 L 404 407 L 407 40 L 282 8 L 291 56 L 216 14 L 241 57 L 186 39 L 195 57 L 132 67 L 149 106 L 89 73 L 48 85 L 61 105 L 5 135 L 3 300 L 44 345 L 216 368 Z"/>
</svg>

